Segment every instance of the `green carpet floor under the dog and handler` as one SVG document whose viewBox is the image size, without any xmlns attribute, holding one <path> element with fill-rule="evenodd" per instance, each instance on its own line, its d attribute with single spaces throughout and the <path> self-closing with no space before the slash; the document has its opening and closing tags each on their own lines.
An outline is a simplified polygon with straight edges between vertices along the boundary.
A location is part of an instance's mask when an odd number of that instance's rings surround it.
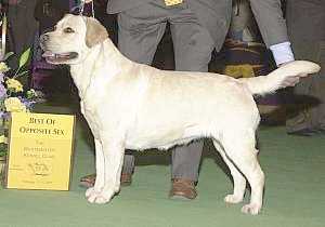
<svg viewBox="0 0 325 227">
<path fill-rule="evenodd" d="M 39 110 L 48 109 L 69 111 L 57 107 Z M 264 206 L 258 216 L 242 214 L 243 204 L 223 202 L 232 182 L 210 143 L 205 146 L 199 196 L 194 201 L 167 198 L 169 153 L 151 151 L 136 153 L 132 185 L 123 187 L 110 203 L 88 203 L 78 181 L 94 172 L 94 156 L 91 136 L 79 121 L 70 191 L 0 189 L 0 226 L 324 227 L 325 136 L 289 136 L 283 126 L 261 128 L 258 135 L 266 175 Z"/>
</svg>

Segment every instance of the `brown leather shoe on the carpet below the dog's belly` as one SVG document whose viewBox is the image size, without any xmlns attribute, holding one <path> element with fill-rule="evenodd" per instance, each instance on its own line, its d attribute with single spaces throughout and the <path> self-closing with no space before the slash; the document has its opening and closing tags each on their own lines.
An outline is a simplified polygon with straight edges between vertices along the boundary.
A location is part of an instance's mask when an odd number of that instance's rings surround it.
<svg viewBox="0 0 325 227">
<path fill-rule="evenodd" d="M 169 191 L 170 199 L 195 199 L 195 183 L 191 179 L 174 178 Z"/>
</svg>

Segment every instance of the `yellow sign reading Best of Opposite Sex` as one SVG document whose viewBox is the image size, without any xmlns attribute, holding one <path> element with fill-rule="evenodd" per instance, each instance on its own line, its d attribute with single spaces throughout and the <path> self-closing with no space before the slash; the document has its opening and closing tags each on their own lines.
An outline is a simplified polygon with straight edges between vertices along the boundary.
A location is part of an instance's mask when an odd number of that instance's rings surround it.
<svg viewBox="0 0 325 227">
<path fill-rule="evenodd" d="M 68 190 L 75 117 L 12 112 L 6 188 Z"/>
</svg>

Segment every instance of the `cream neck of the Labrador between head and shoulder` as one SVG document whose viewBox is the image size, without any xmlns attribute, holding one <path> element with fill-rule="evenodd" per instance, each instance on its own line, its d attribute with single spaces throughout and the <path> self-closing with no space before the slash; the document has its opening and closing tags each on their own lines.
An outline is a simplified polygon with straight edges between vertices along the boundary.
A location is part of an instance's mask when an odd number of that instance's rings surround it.
<svg viewBox="0 0 325 227">
<path fill-rule="evenodd" d="M 102 76 L 105 80 L 109 80 L 117 76 L 121 70 L 120 66 L 126 64 L 132 64 L 132 62 L 117 50 L 110 39 L 91 48 L 82 63 L 70 66 L 72 77 L 78 88 L 80 98 L 83 99 L 95 77 Z M 105 74 L 99 74 L 99 70 Z"/>
</svg>

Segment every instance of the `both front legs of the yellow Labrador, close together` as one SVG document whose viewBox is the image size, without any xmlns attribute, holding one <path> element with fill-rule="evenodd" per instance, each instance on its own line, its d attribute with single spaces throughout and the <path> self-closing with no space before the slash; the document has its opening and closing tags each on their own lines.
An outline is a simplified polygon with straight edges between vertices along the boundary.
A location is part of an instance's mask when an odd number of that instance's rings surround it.
<svg viewBox="0 0 325 227">
<path fill-rule="evenodd" d="M 106 203 L 119 191 L 125 147 L 119 139 L 107 137 L 95 141 L 96 181 L 94 187 L 86 191 L 88 201 L 92 203 Z"/>
</svg>

